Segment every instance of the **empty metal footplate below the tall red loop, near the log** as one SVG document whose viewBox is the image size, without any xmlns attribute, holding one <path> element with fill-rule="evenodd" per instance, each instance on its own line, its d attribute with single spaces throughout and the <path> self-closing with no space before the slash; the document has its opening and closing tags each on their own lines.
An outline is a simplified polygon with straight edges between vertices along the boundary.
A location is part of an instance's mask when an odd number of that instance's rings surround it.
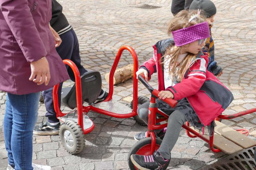
<svg viewBox="0 0 256 170">
<path fill-rule="evenodd" d="M 132 109 L 129 108 L 128 106 L 125 106 L 124 104 L 118 101 L 112 101 L 112 100 L 93 104 L 92 106 L 102 110 L 109 111 L 109 112 L 117 113 L 117 114 L 128 114 L 132 112 Z"/>
</svg>

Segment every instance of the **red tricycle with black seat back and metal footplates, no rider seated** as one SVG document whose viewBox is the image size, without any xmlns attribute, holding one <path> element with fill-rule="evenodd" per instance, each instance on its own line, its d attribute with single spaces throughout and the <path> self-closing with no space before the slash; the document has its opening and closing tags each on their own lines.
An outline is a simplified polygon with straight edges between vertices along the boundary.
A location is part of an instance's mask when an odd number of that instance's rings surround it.
<svg viewBox="0 0 256 170">
<path fill-rule="evenodd" d="M 134 63 L 133 75 L 133 106 L 132 109 L 117 101 L 113 102 L 113 76 L 124 50 L 128 50 Z M 58 88 L 59 84 L 53 88 L 53 103 L 57 118 L 63 123 L 60 125 L 59 136 L 65 149 L 72 154 L 80 153 L 85 146 L 84 134 L 91 132 L 95 125 L 87 116 L 89 111 L 108 115 L 115 118 L 130 118 L 137 116 L 138 103 L 138 71 L 137 54 L 132 47 L 122 46 L 117 52 L 113 66 L 109 75 L 109 93 L 107 98 L 100 103 L 83 106 L 83 102 L 94 103 L 101 90 L 101 75 L 98 71 L 90 71 L 80 76 L 76 65 L 70 60 L 63 60 L 65 64 L 72 68 L 75 75 L 75 84 L 72 87 L 62 88 L 62 103 L 70 109 L 75 109 L 70 113 L 62 113 L 59 109 Z"/>
</svg>

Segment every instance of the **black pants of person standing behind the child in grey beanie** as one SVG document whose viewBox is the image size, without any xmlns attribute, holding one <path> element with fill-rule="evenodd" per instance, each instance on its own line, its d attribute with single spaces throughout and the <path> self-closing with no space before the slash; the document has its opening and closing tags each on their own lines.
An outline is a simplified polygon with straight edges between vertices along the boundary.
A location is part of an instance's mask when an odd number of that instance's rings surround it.
<svg viewBox="0 0 256 170">
<path fill-rule="evenodd" d="M 188 10 L 192 1 L 193 0 L 172 0 L 171 13 L 176 15 L 182 10 Z"/>
</svg>

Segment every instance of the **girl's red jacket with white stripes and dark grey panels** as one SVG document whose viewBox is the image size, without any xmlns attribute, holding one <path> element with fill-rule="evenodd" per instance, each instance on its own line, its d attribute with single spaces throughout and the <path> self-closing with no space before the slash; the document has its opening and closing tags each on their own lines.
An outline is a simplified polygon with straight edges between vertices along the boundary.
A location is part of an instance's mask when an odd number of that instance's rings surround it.
<svg viewBox="0 0 256 170">
<path fill-rule="evenodd" d="M 171 91 L 174 100 L 186 97 L 200 121 L 208 125 L 228 107 L 233 100 L 233 95 L 211 72 L 207 71 L 208 54 L 202 51 L 197 55 L 196 61 L 191 62 L 183 80 L 165 89 L 160 59 L 170 45 L 175 45 L 173 39 L 157 42 L 153 46 L 154 56 L 140 68 L 147 69 L 149 79 L 153 73 L 157 72 L 159 91 Z"/>
</svg>

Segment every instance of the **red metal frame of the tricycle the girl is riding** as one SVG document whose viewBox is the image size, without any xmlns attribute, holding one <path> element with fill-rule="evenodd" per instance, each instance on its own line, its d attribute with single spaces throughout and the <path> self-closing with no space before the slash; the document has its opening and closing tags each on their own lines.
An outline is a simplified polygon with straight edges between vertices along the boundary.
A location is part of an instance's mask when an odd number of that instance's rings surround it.
<svg viewBox="0 0 256 170">
<path fill-rule="evenodd" d="M 156 103 L 156 99 L 154 97 L 151 97 L 150 103 L 151 104 Z M 220 116 L 218 116 L 217 120 L 219 120 L 219 119 L 233 119 L 233 118 L 240 117 L 240 116 L 243 116 L 243 115 L 247 115 L 247 114 L 250 114 L 250 113 L 253 113 L 253 112 L 256 112 L 256 108 L 250 109 L 250 110 L 246 110 L 246 111 L 243 111 L 243 112 L 239 112 L 239 113 L 236 113 L 236 114 L 233 114 L 233 115 L 220 115 Z M 156 119 L 156 113 L 161 114 L 165 118 L 164 119 Z M 166 119 L 168 119 L 168 118 L 165 115 L 163 115 L 162 113 L 158 112 L 157 107 L 149 107 L 149 122 L 148 122 L 147 137 L 151 137 L 151 141 L 152 141 L 151 142 L 151 154 L 154 153 L 155 145 L 156 145 L 156 136 L 155 136 L 154 130 L 161 129 L 161 128 L 167 126 L 167 123 L 164 123 L 164 124 L 161 124 L 161 125 L 156 125 L 156 122 L 161 122 L 161 121 L 164 121 Z M 213 151 L 213 152 L 221 152 L 220 149 L 216 149 L 213 146 L 214 132 L 212 132 L 213 134 L 211 134 L 210 138 L 207 139 L 202 134 L 200 134 L 197 131 L 191 129 L 189 127 L 189 123 L 188 122 L 186 122 L 186 124 L 183 124 L 182 127 L 186 130 L 186 133 L 187 133 L 187 135 L 189 137 L 191 137 L 191 138 L 199 137 L 200 139 L 204 140 L 205 142 L 207 142 L 209 144 L 209 148 L 211 149 L 211 151 Z M 243 130 L 243 129 L 238 129 L 237 131 L 241 131 L 241 130 Z M 240 133 L 246 135 L 247 132 L 240 132 Z"/>
</svg>

